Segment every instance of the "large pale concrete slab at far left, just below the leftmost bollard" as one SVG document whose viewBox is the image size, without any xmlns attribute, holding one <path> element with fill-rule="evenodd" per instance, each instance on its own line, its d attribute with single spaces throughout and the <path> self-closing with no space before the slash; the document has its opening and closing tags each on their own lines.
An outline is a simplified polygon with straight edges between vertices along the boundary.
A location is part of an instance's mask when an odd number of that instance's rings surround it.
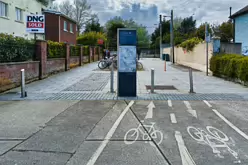
<svg viewBox="0 0 248 165">
<path fill-rule="evenodd" d="M 77 101 L 11 101 L 0 106 L 0 139 L 26 139 Z"/>
</svg>

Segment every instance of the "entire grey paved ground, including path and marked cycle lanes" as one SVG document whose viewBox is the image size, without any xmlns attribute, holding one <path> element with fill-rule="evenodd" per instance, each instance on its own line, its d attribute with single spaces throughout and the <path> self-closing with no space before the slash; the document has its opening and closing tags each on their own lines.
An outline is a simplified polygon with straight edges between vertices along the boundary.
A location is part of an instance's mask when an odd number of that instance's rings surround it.
<svg viewBox="0 0 248 165">
<path fill-rule="evenodd" d="M 189 94 L 188 68 L 141 62 L 134 98 L 110 93 L 97 63 L 0 95 L 0 164 L 248 164 L 246 87 L 194 70 Z M 146 89 L 151 68 L 166 90 Z"/>
</svg>

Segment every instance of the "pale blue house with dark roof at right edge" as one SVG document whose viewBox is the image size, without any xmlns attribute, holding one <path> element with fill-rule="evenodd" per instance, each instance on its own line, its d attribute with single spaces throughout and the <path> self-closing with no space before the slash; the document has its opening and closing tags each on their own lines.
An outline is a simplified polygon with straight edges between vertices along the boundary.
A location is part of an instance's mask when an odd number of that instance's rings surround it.
<svg viewBox="0 0 248 165">
<path fill-rule="evenodd" d="M 242 54 L 248 55 L 248 5 L 234 13 L 234 42 L 242 43 Z"/>
</svg>

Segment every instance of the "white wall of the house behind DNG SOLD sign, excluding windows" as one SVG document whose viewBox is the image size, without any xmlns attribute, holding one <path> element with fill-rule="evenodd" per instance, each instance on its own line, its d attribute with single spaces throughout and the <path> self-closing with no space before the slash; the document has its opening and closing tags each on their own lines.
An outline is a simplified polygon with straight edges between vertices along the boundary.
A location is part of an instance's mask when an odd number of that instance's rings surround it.
<svg viewBox="0 0 248 165">
<path fill-rule="evenodd" d="M 13 34 L 15 36 L 25 37 L 28 39 L 34 38 L 33 34 L 26 32 L 26 16 L 28 14 L 41 14 L 43 6 L 36 0 L 0 0 L 8 4 L 8 17 L 0 17 L 0 33 Z M 16 21 L 15 8 L 18 7 L 23 10 L 22 22 Z M 37 38 L 43 39 L 43 35 L 37 35 Z"/>
</svg>

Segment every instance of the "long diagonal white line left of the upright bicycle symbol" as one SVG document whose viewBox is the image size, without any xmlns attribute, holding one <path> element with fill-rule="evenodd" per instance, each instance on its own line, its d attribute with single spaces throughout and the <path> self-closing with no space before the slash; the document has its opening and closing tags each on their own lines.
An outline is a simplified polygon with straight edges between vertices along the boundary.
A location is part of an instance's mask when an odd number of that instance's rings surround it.
<svg viewBox="0 0 248 165">
<path fill-rule="evenodd" d="M 96 160 L 98 159 L 98 157 L 101 155 L 102 151 L 104 150 L 104 148 L 106 147 L 106 145 L 108 144 L 109 140 L 111 139 L 111 137 L 113 136 L 115 130 L 117 129 L 117 127 L 119 126 L 121 120 L 123 119 L 123 117 L 125 116 L 125 114 L 128 112 L 129 108 L 133 105 L 134 101 L 130 101 L 130 103 L 128 104 L 128 106 L 124 109 L 124 111 L 120 114 L 120 116 L 118 117 L 118 119 L 115 121 L 114 125 L 112 126 L 112 128 L 109 130 L 108 134 L 106 135 L 105 139 L 102 141 L 101 145 L 97 148 L 96 152 L 92 155 L 92 157 L 90 158 L 90 160 L 88 161 L 87 165 L 94 165 Z"/>
</svg>

